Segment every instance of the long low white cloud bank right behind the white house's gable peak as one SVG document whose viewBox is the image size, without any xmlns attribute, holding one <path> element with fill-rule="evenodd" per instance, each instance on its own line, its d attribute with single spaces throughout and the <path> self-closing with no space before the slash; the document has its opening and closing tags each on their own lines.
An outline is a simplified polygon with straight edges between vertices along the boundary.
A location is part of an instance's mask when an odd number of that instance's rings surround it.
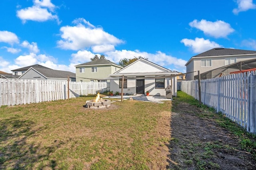
<svg viewBox="0 0 256 170">
<path fill-rule="evenodd" d="M 157 51 L 156 53 L 147 53 L 147 52 L 140 52 L 139 50 L 136 51 L 128 51 L 128 50 L 122 50 L 122 51 L 111 51 L 106 53 L 106 58 L 110 61 L 113 61 L 114 63 L 118 63 L 121 59 L 127 58 L 132 59 L 133 57 L 143 57 L 147 58 L 148 61 L 151 61 L 155 64 L 158 64 L 160 66 L 167 66 L 172 65 L 177 69 L 182 69 L 185 67 L 185 64 L 187 61 L 183 59 L 178 59 L 176 57 L 172 57 L 171 55 L 166 55 L 165 53 L 162 53 L 161 51 Z"/>
</svg>

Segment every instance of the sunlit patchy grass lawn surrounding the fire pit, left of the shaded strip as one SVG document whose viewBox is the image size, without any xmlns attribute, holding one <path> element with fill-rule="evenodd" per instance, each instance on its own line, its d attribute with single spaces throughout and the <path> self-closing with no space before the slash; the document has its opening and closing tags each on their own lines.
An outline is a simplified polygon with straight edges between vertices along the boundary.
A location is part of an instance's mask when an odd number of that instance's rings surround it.
<svg viewBox="0 0 256 170">
<path fill-rule="evenodd" d="M 0 169 L 164 169 L 171 102 L 114 102 L 86 109 L 86 100 L 0 108 Z"/>
</svg>

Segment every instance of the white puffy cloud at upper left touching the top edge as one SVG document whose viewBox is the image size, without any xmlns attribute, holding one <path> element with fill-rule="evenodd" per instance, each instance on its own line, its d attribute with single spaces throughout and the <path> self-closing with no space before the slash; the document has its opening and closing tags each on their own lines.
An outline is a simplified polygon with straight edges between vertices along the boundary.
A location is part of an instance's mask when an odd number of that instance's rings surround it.
<svg viewBox="0 0 256 170">
<path fill-rule="evenodd" d="M 50 0 L 34 0 L 34 6 L 18 10 L 16 16 L 20 18 L 23 23 L 26 23 L 27 20 L 39 22 L 56 20 L 58 24 L 60 24 L 58 16 L 52 13 L 55 8 L 56 6 L 52 4 Z M 49 12 L 48 9 L 51 12 Z"/>
</svg>

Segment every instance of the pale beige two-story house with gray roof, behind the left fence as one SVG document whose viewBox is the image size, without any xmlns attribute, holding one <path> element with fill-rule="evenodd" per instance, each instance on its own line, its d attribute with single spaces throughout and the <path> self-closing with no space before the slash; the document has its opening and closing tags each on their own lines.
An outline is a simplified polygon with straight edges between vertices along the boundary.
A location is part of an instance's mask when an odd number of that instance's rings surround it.
<svg viewBox="0 0 256 170">
<path fill-rule="evenodd" d="M 109 74 L 113 74 L 123 68 L 106 59 L 97 59 L 88 63 L 78 64 L 75 67 L 77 82 L 106 82 L 104 78 L 107 78 Z"/>
</svg>

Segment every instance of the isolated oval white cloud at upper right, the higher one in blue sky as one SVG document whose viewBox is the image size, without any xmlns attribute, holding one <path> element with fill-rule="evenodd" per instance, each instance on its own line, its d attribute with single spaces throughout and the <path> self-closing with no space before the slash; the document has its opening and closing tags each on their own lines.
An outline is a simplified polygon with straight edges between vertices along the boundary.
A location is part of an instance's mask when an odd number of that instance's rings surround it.
<svg viewBox="0 0 256 170">
<path fill-rule="evenodd" d="M 210 35 L 215 38 L 227 37 L 230 33 L 234 32 L 234 29 L 229 23 L 220 20 L 215 22 L 194 20 L 190 22 L 189 25 L 202 30 L 206 35 Z"/>
</svg>

